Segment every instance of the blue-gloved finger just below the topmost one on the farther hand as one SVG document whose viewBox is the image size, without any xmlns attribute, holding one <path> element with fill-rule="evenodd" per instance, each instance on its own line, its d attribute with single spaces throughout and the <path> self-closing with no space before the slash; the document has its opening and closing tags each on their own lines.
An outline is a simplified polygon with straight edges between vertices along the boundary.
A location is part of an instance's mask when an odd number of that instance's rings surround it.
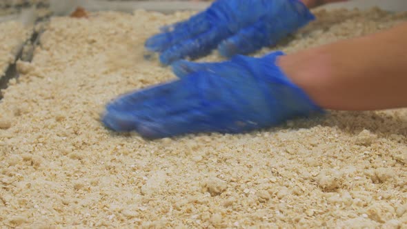
<svg viewBox="0 0 407 229">
<path fill-rule="evenodd" d="M 209 54 L 217 44 L 230 36 L 230 32 L 225 28 L 214 27 L 197 37 L 181 41 L 180 43 L 170 46 L 160 55 L 161 63 L 168 65 L 174 61 L 190 57 L 197 59 Z"/>
</svg>

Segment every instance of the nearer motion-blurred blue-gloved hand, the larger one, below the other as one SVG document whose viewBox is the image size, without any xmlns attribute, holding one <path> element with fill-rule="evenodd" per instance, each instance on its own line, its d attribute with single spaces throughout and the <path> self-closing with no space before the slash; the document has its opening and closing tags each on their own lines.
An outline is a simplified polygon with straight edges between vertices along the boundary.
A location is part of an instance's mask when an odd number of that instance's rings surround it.
<svg viewBox="0 0 407 229">
<path fill-rule="evenodd" d="M 178 61 L 179 79 L 125 94 L 106 107 L 112 130 L 146 138 L 197 132 L 239 133 L 322 112 L 275 65 L 282 52 L 221 63 Z"/>
</svg>

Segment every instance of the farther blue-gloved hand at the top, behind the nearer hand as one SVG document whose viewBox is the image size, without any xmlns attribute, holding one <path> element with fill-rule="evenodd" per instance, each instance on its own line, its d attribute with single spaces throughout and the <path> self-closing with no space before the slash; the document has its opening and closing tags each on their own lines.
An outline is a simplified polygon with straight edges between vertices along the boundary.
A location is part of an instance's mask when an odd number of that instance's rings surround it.
<svg viewBox="0 0 407 229">
<path fill-rule="evenodd" d="M 217 0 L 187 21 L 146 41 L 161 63 L 195 59 L 218 48 L 224 57 L 275 45 L 315 17 L 299 0 Z"/>
</svg>

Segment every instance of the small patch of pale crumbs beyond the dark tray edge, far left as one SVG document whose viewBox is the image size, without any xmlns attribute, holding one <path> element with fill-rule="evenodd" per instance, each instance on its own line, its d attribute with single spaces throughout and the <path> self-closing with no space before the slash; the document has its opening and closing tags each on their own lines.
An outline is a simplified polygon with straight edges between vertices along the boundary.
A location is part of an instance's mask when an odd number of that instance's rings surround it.
<svg viewBox="0 0 407 229">
<path fill-rule="evenodd" d="M 30 31 L 19 21 L 0 23 L 0 78 L 10 63 L 14 63 L 15 56 L 30 36 Z"/>
</svg>

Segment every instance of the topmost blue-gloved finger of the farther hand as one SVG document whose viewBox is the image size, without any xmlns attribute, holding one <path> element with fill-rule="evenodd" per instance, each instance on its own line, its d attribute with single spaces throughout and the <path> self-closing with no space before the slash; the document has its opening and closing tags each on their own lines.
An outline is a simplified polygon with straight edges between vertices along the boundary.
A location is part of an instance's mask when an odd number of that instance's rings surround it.
<svg viewBox="0 0 407 229">
<path fill-rule="evenodd" d="M 170 46 L 188 40 L 212 28 L 206 15 L 201 12 L 187 21 L 175 23 L 172 26 L 161 28 L 161 33 L 147 39 L 145 47 L 151 52 L 163 52 Z"/>
</svg>

